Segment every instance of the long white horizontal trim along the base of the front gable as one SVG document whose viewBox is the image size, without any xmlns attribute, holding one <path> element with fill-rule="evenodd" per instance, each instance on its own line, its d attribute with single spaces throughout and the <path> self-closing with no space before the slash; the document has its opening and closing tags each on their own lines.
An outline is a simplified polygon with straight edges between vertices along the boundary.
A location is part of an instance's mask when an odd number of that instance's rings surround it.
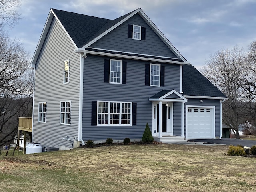
<svg viewBox="0 0 256 192">
<path fill-rule="evenodd" d="M 100 55 L 100 56 L 110 56 L 110 57 L 116 57 L 116 58 L 136 59 L 136 60 L 151 61 L 151 62 L 162 62 L 162 63 L 172 63 L 172 64 L 187 64 L 187 65 L 190 64 L 190 62 L 180 62 L 180 61 L 163 60 L 163 59 L 155 59 L 155 58 L 145 58 L 145 57 L 121 55 L 121 54 L 114 54 L 114 53 L 95 52 L 95 51 L 88 51 L 88 50 L 81 50 L 81 49 L 75 49 L 74 52 L 77 52 L 77 53 L 81 53 L 81 52 L 84 53 L 85 52 L 85 53 L 88 53 L 88 54 L 94 54 L 94 55 Z"/>
</svg>

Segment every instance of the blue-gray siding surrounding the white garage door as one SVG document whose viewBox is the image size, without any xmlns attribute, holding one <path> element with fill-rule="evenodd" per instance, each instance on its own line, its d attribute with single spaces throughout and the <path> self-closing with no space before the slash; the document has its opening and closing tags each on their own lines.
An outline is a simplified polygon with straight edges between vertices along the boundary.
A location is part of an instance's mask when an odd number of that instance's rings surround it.
<svg viewBox="0 0 256 192">
<path fill-rule="evenodd" d="M 200 102 L 198 99 L 188 99 L 188 102 L 185 103 L 185 136 L 186 136 L 186 106 L 195 105 L 195 106 L 215 106 L 215 137 L 220 136 L 220 100 L 214 99 L 203 99 L 203 102 Z"/>
</svg>

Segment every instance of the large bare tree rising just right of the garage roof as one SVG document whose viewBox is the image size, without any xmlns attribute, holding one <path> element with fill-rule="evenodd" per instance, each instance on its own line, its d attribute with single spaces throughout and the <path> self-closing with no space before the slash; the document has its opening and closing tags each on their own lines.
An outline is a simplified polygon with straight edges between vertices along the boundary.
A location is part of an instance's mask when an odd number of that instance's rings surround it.
<svg viewBox="0 0 256 192">
<path fill-rule="evenodd" d="M 202 69 L 202 74 L 229 98 L 223 104 L 222 120 L 232 127 L 236 138 L 239 138 L 238 125 L 244 122 L 242 108 L 245 92 L 240 83 L 240 78 L 244 75 L 244 56 L 244 51 L 239 46 L 222 48 L 210 56 Z"/>
</svg>

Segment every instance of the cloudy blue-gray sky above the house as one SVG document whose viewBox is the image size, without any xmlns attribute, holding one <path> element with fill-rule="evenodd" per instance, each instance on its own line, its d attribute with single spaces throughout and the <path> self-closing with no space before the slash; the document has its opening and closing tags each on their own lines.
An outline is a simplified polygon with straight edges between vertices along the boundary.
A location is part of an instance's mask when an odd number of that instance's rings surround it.
<svg viewBox="0 0 256 192">
<path fill-rule="evenodd" d="M 256 40 L 256 0 L 22 0 L 22 20 L 8 30 L 31 56 L 50 8 L 108 19 L 142 8 L 198 69 L 217 50 Z"/>
</svg>

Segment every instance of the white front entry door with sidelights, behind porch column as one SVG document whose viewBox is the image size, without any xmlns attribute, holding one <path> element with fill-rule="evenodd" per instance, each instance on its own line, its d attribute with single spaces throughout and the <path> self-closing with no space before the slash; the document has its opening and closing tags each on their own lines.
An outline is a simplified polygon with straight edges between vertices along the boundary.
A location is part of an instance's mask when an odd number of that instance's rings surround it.
<svg viewBox="0 0 256 192">
<path fill-rule="evenodd" d="M 162 122 L 162 135 L 172 136 L 173 135 L 173 103 L 162 104 L 162 118 L 159 113 L 159 104 L 158 102 L 153 102 L 153 136 L 158 136 L 159 134 L 159 120 Z"/>
</svg>

